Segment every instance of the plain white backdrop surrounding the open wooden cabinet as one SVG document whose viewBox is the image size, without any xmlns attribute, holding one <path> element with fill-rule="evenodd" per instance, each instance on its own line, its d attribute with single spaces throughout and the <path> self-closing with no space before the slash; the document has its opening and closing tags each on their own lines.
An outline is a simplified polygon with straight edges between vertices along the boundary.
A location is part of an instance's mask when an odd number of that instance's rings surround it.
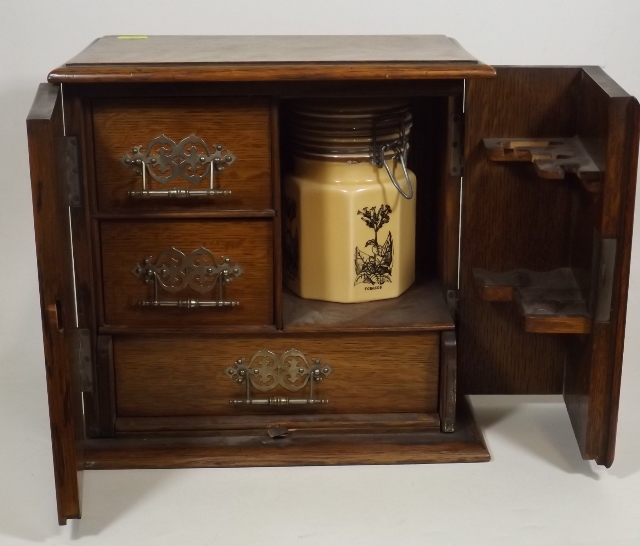
<svg viewBox="0 0 640 546">
<path fill-rule="evenodd" d="M 610 470 L 580 459 L 560 398 L 476 397 L 494 458 L 489 464 L 88 472 L 82 521 L 59 529 L 25 131 L 37 84 L 105 34 L 447 34 L 489 64 L 600 65 L 640 96 L 640 2 L 2 0 L 0 6 L 1 545 L 640 543 L 637 251 Z"/>
</svg>

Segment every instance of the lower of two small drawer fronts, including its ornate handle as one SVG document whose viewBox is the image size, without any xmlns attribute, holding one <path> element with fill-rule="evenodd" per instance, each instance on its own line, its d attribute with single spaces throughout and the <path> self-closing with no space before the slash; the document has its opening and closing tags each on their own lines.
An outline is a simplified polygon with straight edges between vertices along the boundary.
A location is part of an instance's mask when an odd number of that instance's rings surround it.
<svg viewBox="0 0 640 546">
<path fill-rule="evenodd" d="M 105 221 L 100 236 L 105 324 L 273 324 L 271 220 Z"/>
</svg>

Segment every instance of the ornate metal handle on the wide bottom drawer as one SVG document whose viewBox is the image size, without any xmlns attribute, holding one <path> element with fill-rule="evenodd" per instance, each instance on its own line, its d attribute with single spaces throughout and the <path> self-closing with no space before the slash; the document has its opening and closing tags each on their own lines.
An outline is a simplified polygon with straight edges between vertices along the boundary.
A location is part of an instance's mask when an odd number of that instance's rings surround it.
<svg viewBox="0 0 640 546">
<path fill-rule="evenodd" d="M 229 400 L 229 403 L 253 406 L 328 404 L 329 400 L 313 397 L 313 385 L 331 375 L 333 369 L 329 364 L 323 364 L 318 358 L 312 358 L 311 361 L 312 364 L 296 349 L 289 349 L 281 355 L 261 349 L 253 354 L 248 363 L 245 358 L 239 358 L 227 367 L 226 373 L 233 381 L 246 385 L 246 395 L 244 399 Z M 307 384 L 309 385 L 307 398 L 285 396 L 252 398 L 251 396 L 251 387 L 263 393 L 278 386 L 289 392 L 298 392 Z"/>
</svg>

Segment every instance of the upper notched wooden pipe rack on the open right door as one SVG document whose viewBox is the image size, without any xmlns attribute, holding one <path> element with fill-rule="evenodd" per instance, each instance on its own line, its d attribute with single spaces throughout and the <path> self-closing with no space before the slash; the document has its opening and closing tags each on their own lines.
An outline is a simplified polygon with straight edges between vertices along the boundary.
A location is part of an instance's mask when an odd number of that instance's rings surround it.
<svg viewBox="0 0 640 546">
<path fill-rule="evenodd" d="M 587 191 L 602 191 L 604 169 L 578 137 L 485 138 L 483 142 L 491 161 L 530 162 L 538 176 L 549 180 L 562 180 L 566 173 L 572 173 Z"/>
</svg>

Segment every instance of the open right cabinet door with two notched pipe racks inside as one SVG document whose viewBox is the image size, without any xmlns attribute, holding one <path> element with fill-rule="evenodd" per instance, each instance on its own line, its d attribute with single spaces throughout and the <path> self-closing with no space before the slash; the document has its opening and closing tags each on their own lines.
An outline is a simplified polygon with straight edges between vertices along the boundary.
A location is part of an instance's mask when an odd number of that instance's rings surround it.
<svg viewBox="0 0 640 546">
<path fill-rule="evenodd" d="M 497 68 L 466 91 L 459 304 L 465 394 L 562 393 L 613 461 L 638 102 L 599 68 Z"/>
</svg>

